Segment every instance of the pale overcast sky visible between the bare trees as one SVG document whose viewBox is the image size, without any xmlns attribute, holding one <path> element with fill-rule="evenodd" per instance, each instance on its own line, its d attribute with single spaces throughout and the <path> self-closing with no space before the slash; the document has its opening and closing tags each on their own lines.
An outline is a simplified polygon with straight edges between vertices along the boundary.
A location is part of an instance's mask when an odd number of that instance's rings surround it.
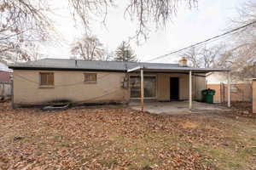
<svg viewBox="0 0 256 170">
<path fill-rule="evenodd" d="M 70 43 L 83 34 L 83 29 L 74 27 L 74 23 L 67 9 L 66 1 L 55 1 L 55 14 L 51 16 L 55 20 L 55 26 L 65 39 L 62 47 L 50 46 L 42 50 L 43 54 L 48 54 L 53 58 L 69 58 Z M 177 16 L 168 23 L 166 29 L 152 31 L 147 42 L 137 46 L 136 41 L 132 41 L 137 57 L 141 61 L 152 59 L 161 54 L 166 54 L 184 48 L 195 42 L 203 41 L 209 37 L 223 33 L 229 28 L 230 18 L 237 15 L 236 9 L 247 0 L 199 0 L 198 8 L 189 10 L 178 8 Z M 107 28 L 93 23 L 92 34 L 99 37 L 109 51 L 115 50 L 120 42 L 128 40 L 134 35 L 135 24 L 123 17 L 123 7 L 111 8 L 108 11 Z M 152 28 L 153 29 L 153 28 Z M 154 30 L 154 29 L 153 29 Z M 174 57 L 154 60 L 154 62 L 175 62 Z"/>
</svg>

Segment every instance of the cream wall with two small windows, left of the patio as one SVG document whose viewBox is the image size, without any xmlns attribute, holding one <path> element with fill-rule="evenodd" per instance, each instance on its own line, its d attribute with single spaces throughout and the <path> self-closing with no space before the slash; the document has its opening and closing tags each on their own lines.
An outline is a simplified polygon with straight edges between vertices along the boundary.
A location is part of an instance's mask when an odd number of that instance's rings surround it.
<svg viewBox="0 0 256 170">
<path fill-rule="evenodd" d="M 39 86 L 40 72 L 54 72 L 54 88 Z M 96 83 L 85 83 L 86 71 L 14 71 L 14 104 L 38 105 L 53 100 L 73 102 L 127 101 L 128 90 L 121 88 L 123 73 L 97 72 Z"/>
</svg>

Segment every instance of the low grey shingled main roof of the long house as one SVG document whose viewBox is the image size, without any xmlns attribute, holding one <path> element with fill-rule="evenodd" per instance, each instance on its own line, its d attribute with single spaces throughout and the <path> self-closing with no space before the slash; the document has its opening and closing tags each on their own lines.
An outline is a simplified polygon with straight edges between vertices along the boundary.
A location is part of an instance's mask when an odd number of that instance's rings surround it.
<svg viewBox="0 0 256 170">
<path fill-rule="evenodd" d="M 82 59 L 39 59 L 26 63 L 9 65 L 11 69 L 24 70 L 73 70 L 73 71 L 129 71 L 135 68 L 174 69 L 174 70 L 195 70 L 192 67 L 183 67 L 178 64 L 162 63 L 139 63 L 127 62 L 127 67 L 122 61 L 91 61 Z M 198 70 L 198 69 L 197 69 Z M 208 71 L 207 69 L 199 69 Z M 223 70 L 221 70 L 223 71 Z"/>
</svg>

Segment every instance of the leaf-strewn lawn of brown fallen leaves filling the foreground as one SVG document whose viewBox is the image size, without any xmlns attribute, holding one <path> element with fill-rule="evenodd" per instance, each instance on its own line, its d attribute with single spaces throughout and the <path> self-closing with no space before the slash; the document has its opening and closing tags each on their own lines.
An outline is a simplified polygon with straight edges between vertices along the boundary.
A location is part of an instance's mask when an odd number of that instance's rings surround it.
<svg viewBox="0 0 256 170">
<path fill-rule="evenodd" d="M 256 169 L 256 120 L 3 103 L 0 169 Z"/>
</svg>

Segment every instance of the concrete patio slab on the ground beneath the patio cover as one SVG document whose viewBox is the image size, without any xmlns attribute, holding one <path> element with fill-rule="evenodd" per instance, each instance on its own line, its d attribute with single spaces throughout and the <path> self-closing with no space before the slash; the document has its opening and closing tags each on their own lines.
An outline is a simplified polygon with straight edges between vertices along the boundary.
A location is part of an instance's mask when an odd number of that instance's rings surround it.
<svg viewBox="0 0 256 170">
<path fill-rule="evenodd" d="M 131 102 L 130 107 L 133 110 L 141 111 L 141 105 L 139 102 Z M 144 111 L 157 115 L 186 115 L 191 113 L 205 113 L 212 111 L 230 111 L 230 109 L 217 104 L 207 104 L 193 101 L 193 109 L 189 110 L 189 101 L 172 101 L 145 103 Z"/>
</svg>

